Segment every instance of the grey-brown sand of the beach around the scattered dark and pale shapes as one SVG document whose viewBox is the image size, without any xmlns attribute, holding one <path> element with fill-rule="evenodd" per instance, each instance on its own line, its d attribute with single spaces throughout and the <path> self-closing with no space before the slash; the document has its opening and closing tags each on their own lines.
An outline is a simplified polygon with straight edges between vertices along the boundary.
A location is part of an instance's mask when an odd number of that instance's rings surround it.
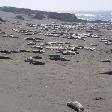
<svg viewBox="0 0 112 112">
<path fill-rule="evenodd" d="M 0 59 L 0 111 L 1 112 L 74 112 L 67 107 L 68 101 L 79 101 L 85 112 L 112 111 L 112 76 L 100 74 L 112 70 L 112 45 L 100 42 L 101 38 L 112 39 L 112 30 L 98 28 L 94 34 L 100 38 L 84 38 L 84 40 L 48 37 L 43 34 L 24 35 L 12 29 L 30 29 L 27 23 L 60 25 L 56 20 L 36 20 L 24 16 L 25 20 L 15 19 L 16 14 L 0 11 L 0 17 L 8 20 L 1 22 L 0 29 L 6 34 L 18 38 L 4 37 L 0 33 L 0 50 L 25 49 L 32 51 L 32 45 L 27 45 L 27 37 L 43 38 L 42 42 L 70 42 L 74 46 L 91 47 L 95 50 L 79 49 L 79 54 L 65 55 L 70 61 L 55 61 L 49 59 L 53 50 L 45 50 L 43 54 L 32 52 L 0 53 L 11 59 Z M 103 25 L 102 25 L 103 26 Z M 106 25 L 105 25 L 106 26 Z M 21 27 L 21 28 L 20 28 Z M 112 25 L 107 25 L 111 27 Z M 41 31 L 41 30 L 39 30 Z M 73 30 L 74 33 L 86 33 L 85 30 Z M 40 45 L 39 43 L 39 45 Z M 38 43 L 37 43 L 38 44 Z M 86 48 L 85 47 L 85 48 Z M 45 65 L 33 65 L 24 60 L 30 56 L 39 55 Z"/>
</svg>

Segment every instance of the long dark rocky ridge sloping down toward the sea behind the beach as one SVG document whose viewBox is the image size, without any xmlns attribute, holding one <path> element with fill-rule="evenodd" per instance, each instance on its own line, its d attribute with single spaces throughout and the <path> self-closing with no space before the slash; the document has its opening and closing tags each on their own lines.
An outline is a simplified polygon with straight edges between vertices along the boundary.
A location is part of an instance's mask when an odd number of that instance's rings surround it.
<svg viewBox="0 0 112 112">
<path fill-rule="evenodd" d="M 51 19 L 57 19 L 60 21 L 76 22 L 79 21 L 74 14 L 70 13 L 57 13 L 57 12 L 46 12 L 31 10 L 26 8 L 16 8 L 16 7 L 0 7 L 1 11 L 12 12 L 16 14 L 26 14 L 35 19 L 44 19 L 45 17 Z"/>
</svg>

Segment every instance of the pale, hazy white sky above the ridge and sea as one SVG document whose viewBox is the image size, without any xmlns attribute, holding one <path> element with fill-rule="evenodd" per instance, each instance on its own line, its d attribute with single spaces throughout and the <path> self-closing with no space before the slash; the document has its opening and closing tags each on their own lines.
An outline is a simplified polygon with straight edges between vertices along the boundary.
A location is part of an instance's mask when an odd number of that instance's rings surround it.
<svg viewBox="0 0 112 112">
<path fill-rule="evenodd" d="M 0 6 L 45 11 L 112 10 L 112 0 L 1 0 Z"/>
</svg>

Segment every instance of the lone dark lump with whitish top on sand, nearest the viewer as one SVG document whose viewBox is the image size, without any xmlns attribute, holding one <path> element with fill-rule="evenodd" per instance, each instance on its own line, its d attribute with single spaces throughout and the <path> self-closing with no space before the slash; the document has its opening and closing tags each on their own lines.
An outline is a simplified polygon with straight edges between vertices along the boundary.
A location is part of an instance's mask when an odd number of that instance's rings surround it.
<svg viewBox="0 0 112 112">
<path fill-rule="evenodd" d="M 67 103 L 67 106 L 74 109 L 77 112 L 83 112 L 84 111 L 84 107 L 78 101 L 73 101 L 73 102 L 70 101 Z"/>
</svg>

